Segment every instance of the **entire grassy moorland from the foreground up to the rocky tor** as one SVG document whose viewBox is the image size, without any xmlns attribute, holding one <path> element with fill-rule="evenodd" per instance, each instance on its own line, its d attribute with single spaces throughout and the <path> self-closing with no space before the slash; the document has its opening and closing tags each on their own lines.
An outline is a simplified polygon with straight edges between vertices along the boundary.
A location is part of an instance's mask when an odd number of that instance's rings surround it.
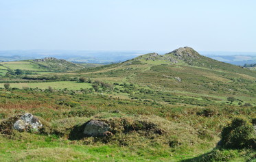
<svg viewBox="0 0 256 162">
<path fill-rule="evenodd" d="M 250 129 L 256 121 L 253 70 L 189 47 L 75 72 L 50 71 L 62 66 L 47 62 L 48 68 L 42 59 L 15 62 L 45 73 L 1 77 L 3 161 L 255 161 L 254 148 L 217 146 L 233 119 L 244 119 Z M 5 127 L 24 112 L 43 122 L 42 132 Z M 91 119 L 109 124 L 110 135 L 85 137 L 84 123 Z"/>
</svg>

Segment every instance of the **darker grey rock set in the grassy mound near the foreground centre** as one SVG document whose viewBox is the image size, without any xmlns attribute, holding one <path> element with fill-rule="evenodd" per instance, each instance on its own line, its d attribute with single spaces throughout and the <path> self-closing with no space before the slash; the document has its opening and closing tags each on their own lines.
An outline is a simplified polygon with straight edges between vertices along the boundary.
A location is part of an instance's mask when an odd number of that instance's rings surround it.
<svg viewBox="0 0 256 162">
<path fill-rule="evenodd" d="M 84 127 L 84 135 L 100 137 L 109 130 L 108 124 L 99 120 L 90 120 Z"/>
</svg>

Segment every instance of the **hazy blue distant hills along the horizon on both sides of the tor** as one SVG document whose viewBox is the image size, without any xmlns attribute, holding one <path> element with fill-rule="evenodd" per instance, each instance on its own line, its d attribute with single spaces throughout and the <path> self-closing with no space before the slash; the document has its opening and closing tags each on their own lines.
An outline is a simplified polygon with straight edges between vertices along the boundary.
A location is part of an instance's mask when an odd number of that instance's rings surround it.
<svg viewBox="0 0 256 162">
<path fill-rule="evenodd" d="M 70 51 L 70 50 L 25 50 L 25 51 L 0 51 L 0 62 L 14 62 L 27 59 L 40 59 L 43 57 L 55 57 L 65 59 L 73 63 L 113 64 L 135 58 L 143 53 L 152 51 Z M 156 51 L 160 55 L 167 51 Z M 220 62 L 243 66 L 255 64 L 256 53 L 253 52 L 229 52 L 229 51 L 200 51 L 205 55 Z"/>
</svg>

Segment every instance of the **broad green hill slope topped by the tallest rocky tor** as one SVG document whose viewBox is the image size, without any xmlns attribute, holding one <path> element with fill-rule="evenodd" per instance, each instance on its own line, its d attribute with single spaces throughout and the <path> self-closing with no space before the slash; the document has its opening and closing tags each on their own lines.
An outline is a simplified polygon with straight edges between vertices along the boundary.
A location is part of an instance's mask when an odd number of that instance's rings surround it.
<svg viewBox="0 0 256 162">
<path fill-rule="evenodd" d="M 84 69 L 84 77 L 132 83 L 157 92 L 187 95 L 200 100 L 211 96 L 255 98 L 256 72 L 205 57 L 189 47 L 165 55 L 149 53 L 119 64 Z M 198 98 L 198 95 L 200 98 Z M 135 95 L 136 96 L 136 93 Z"/>
</svg>

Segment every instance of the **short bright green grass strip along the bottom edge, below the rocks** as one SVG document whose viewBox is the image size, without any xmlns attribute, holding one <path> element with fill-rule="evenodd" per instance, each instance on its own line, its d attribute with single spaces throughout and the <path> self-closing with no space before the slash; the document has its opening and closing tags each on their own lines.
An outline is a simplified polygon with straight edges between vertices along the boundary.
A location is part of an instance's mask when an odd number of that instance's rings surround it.
<svg viewBox="0 0 256 162">
<path fill-rule="evenodd" d="M 176 159 L 171 157 L 170 152 L 161 152 L 156 148 L 93 146 L 58 137 L 29 134 L 16 141 L 1 138 L 0 146 L 0 161 L 170 161 Z M 164 157 L 161 154 L 157 155 L 156 152 L 161 152 Z"/>
</svg>

